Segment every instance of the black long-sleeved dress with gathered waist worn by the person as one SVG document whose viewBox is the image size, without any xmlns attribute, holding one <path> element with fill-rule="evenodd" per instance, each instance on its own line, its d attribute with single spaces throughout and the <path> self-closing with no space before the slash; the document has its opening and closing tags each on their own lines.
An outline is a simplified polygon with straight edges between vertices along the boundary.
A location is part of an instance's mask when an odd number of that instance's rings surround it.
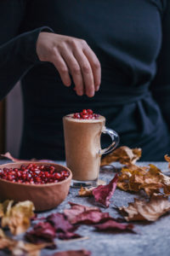
<svg viewBox="0 0 170 256">
<path fill-rule="evenodd" d="M 38 61 L 37 36 L 48 27 L 85 39 L 98 56 L 93 98 L 77 96 L 52 64 Z M 143 148 L 143 160 L 169 153 L 168 0 L 2 0 L 0 45 L 0 99 L 22 78 L 22 158 L 64 159 L 62 116 L 82 108 L 105 115 L 121 145 Z"/>
</svg>

